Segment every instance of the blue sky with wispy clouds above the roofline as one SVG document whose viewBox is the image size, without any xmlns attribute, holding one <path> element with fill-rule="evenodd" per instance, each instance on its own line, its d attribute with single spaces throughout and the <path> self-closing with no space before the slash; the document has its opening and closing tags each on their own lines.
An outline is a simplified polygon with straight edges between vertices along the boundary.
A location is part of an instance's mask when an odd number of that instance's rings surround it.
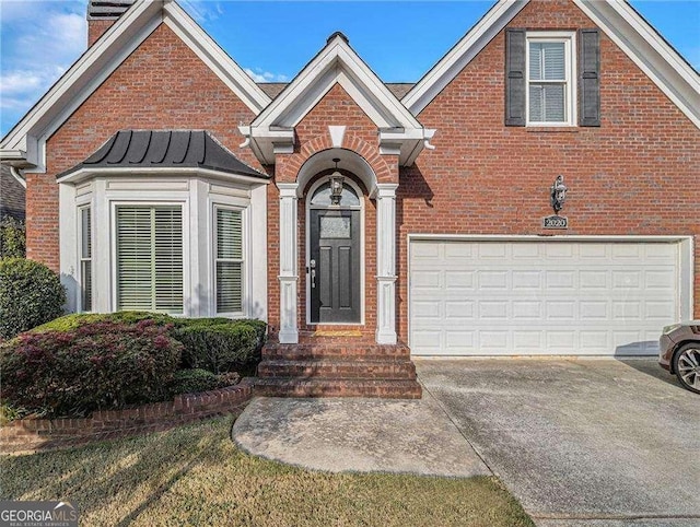
<svg viewBox="0 0 700 527">
<path fill-rule="evenodd" d="M 88 0 L 0 0 L 0 134 L 84 51 Z M 283 82 L 342 31 L 385 82 L 416 82 L 492 1 L 179 0 L 258 81 Z M 700 0 L 631 0 L 700 69 Z"/>
</svg>

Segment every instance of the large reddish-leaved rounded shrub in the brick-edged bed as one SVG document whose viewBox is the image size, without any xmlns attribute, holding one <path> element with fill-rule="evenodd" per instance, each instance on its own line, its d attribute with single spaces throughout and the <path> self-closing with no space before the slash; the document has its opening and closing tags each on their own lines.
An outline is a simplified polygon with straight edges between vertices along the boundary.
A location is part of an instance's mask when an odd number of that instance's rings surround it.
<svg viewBox="0 0 700 527">
<path fill-rule="evenodd" d="M 49 415 L 165 400 L 183 352 L 170 331 L 147 319 L 22 333 L 0 347 L 0 397 Z"/>
</svg>

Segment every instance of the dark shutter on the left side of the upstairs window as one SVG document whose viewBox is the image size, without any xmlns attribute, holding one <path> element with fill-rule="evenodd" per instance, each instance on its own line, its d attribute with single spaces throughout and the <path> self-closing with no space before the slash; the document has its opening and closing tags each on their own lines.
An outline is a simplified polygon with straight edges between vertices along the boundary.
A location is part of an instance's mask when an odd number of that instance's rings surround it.
<svg viewBox="0 0 700 527">
<path fill-rule="evenodd" d="M 505 30 L 505 126 L 525 126 L 525 30 Z"/>
</svg>

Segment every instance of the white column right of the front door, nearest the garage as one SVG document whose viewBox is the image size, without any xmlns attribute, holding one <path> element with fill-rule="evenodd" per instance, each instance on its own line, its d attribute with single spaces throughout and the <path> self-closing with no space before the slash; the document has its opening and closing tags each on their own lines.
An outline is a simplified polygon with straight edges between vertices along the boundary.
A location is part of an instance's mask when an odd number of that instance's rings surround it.
<svg viewBox="0 0 700 527">
<path fill-rule="evenodd" d="M 396 343 L 396 188 L 377 184 L 376 194 L 376 341 Z"/>
</svg>

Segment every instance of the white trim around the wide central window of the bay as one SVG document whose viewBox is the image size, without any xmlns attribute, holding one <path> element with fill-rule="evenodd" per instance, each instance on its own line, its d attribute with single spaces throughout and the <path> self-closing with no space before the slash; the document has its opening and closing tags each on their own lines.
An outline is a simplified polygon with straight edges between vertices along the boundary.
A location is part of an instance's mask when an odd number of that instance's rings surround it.
<svg viewBox="0 0 700 527">
<path fill-rule="evenodd" d="M 118 311 L 117 305 L 117 207 L 179 207 L 182 209 L 182 229 L 183 229 L 183 313 L 167 313 L 174 317 L 187 317 L 189 315 L 188 304 L 190 291 L 190 279 L 188 272 L 188 262 L 190 261 L 190 248 L 189 248 L 189 207 L 185 200 L 171 200 L 171 201 L 154 201 L 154 200 L 109 200 L 109 244 L 110 244 L 110 258 L 109 270 L 112 274 L 112 294 L 109 298 L 110 311 L 116 313 Z M 93 245 L 94 247 L 94 245 Z M 161 313 L 161 312 L 158 312 Z M 162 312 L 165 313 L 165 312 Z"/>
</svg>

